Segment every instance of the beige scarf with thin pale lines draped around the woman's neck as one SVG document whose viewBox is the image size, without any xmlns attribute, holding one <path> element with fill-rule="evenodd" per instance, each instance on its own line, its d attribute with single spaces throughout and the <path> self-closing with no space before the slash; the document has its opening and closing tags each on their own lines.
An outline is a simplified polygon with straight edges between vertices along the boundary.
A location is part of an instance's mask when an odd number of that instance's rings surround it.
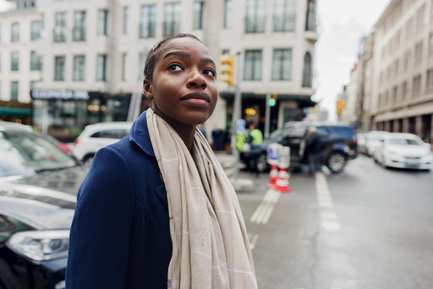
<svg viewBox="0 0 433 289">
<path fill-rule="evenodd" d="M 167 189 L 173 243 L 167 288 L 257 288 L 237 195 L 208 141 L 197 128 L 192 156 L 151 108 L 147 126 Z"/>
</svg>

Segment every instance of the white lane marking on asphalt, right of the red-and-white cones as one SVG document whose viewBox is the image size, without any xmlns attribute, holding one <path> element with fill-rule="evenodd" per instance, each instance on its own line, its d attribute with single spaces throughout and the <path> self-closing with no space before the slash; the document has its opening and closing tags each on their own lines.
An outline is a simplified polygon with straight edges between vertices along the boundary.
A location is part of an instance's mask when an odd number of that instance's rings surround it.
<svg viewBox="0 0 433 289">
<path fill-rule="evenodd" d="M 320 211 L 319 218 L 322 227 L 326 231 L 340 231 L 340 222 L 338 221 L 337 213 L 334 210 L 334 204 L 329 191 L 328 182 L 323 173 L 315 174 L 315 187 L 317 193 L 317 202 L 319 203 Z"/>
</svg>

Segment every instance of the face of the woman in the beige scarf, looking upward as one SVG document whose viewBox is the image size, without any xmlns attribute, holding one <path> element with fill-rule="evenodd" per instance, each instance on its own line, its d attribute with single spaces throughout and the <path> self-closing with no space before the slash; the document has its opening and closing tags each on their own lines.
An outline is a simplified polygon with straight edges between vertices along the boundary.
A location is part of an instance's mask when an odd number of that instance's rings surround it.
<svg viewBox="0 0 433 289">
<path fill-rule="evenodd" d="M 208 48 L 190 37 L 170 40 L 144 91 L 156 114 L 173 128 L 204 123 L 218 100 L 216 67 Z"/>
</svg>

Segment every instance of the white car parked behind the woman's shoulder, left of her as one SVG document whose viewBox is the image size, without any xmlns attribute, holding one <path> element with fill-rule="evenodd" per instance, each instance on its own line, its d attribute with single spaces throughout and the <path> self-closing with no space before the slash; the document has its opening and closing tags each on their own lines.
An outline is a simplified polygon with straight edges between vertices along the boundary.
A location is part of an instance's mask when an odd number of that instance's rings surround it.
<svg viewBox="0 0 433 289">
<path fill-rule="evenodd" d="M 95 153 L 104 146 L 116 143 L 126 137 L 131 130 L 132 122 L 112 121 L 86 125 L 74 141 L 73 155 L 86 166 L 91 164 Z"/>
</svg>

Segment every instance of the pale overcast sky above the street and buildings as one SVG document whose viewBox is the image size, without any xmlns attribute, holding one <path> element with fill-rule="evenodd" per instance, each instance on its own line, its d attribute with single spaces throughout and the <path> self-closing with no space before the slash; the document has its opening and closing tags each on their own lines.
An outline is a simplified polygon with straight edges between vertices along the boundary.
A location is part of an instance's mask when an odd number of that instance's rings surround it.
<svg viewBox="0 0 433 289">
<path fill-rule="evenodd" d="M 335 101 L 358 58 L 360 39 L 371 32 L 391 0 L 317 0 L 319 39 L 315 46 L 313 100 L 335 119 Z M 9 3 L 0 0 L 0 11 Z"/>
</svg>

